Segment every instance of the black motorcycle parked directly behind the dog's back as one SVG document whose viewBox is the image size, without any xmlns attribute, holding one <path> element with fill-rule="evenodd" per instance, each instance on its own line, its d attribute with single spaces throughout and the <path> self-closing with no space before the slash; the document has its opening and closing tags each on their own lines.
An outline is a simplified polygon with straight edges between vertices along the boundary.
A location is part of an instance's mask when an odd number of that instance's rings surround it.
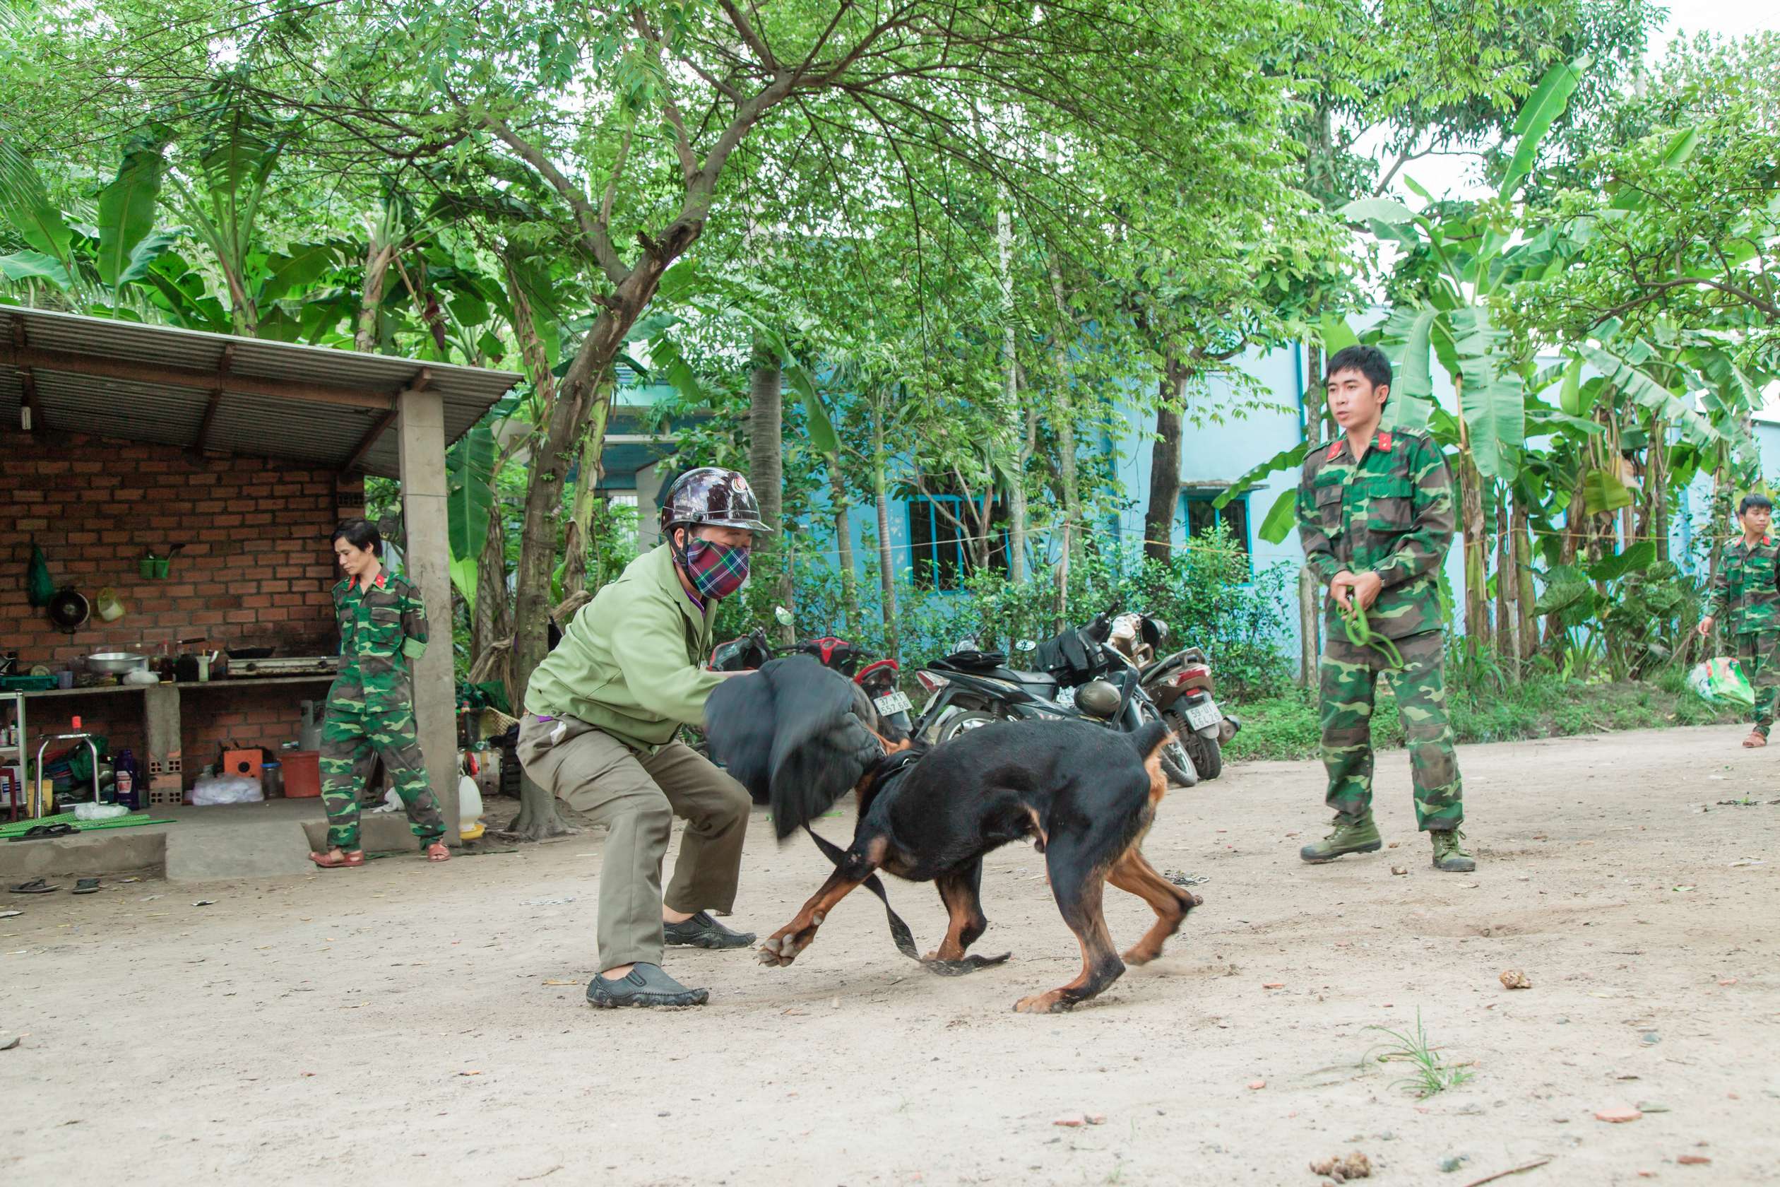
<svg viewBox="0 0 1780 1187">
<path fill-rule="evenodd" d="M 1137 630 L 1161 642 L 1168 625 L 1136 616 Z M 1109 644 L 1114 619 L 1111 610 L 1082 628 L 1034 644 L 1022 641 L 1015 650 L 1031 655 L 1040 671 L 1007 666 L 999 651 L 979 651 L 968 639 L 915 673 L 929 692 L 915 735 L 934 744 L 949 742 L 967 730 L 995 721 L 1073 719 L 1093 721 L 1130 733 L 1162 712 L 1143 689 L 1141 671 Z M 1198 783 L 1193 758 L 1178 742 L 1162 749 L 1162 772 L 1180 787 Z"/>
</svg>

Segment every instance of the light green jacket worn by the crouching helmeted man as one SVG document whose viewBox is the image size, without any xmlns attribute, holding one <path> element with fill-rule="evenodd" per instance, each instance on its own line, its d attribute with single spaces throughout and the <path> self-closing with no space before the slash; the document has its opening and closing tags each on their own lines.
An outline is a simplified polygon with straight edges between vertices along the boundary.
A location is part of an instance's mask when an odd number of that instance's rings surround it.
<svg viewBox="0 0 1780 1187">
<path fill-rule="evenodd" d="M 716 600 L 700 612 L 662 545 L 625 568 L 584 605 L 525 689 L 525 712 L 578 717 L 635 749 L 666 746 L 705 717 L 723 676 L 710 655 Z"/>
</svg>

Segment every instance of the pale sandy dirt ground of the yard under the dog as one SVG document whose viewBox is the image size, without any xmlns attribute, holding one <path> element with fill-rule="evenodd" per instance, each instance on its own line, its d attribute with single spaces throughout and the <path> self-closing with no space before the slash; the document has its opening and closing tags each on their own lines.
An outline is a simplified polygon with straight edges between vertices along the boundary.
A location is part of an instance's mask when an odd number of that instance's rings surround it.
<svg viewBox="0 0 1780 1187">
<path fill-rule="evenodd" d="M 1146 845 L 1210 879 L 1205 906 L 1057 1016 L 1009 1011 L 1079 963 L 1027 847 L 984 874 L 977 950 L 1006 966 L 927 975 L 858 893 L 785 970 L 671 950 L 712 989 L 676 1013 L 582 1000 L 603 833 L 443 868 L 0 895 L 25 911 L 0 920 L 0 1045 L 23 1034 L 0 1054 L 0 1178 L 1315 1187 L 1310 1160 L 1360 1150 L 1381 1183 L 1540 1159 L 1499 1182 L 1780 1182 L 1780 803 L 1760 803 L 1780 749 L 1741 735 L 1463 747 L 1474 876 L 1429 868 L 1401 753 L 1378 804 L 1401 845 L 1317 868 L 1296 849 L 1324 828 L 1321 769 L 1232 767 L 1173 792 Z M 1716 803 L 1737 797 L 1759 803 Z M 824 872 L 756 813 L 732 922 L 773 931 Z M 890 895 L 931 947 L 933 890 Z M 1146 908 L 1107 904 L 1136 940 Z M 1508 968 L 1533 988 L 1504 989 Z M 1428 1100 L 1363 1061 L 1369 1027 L 1417 1011 L 1474 1073 Z M 1643 1118 L 1597 1121 L 1609 1107 Z M 1104 1123 L 1057 1125 L 1084 1114 Z"/>
</svg>

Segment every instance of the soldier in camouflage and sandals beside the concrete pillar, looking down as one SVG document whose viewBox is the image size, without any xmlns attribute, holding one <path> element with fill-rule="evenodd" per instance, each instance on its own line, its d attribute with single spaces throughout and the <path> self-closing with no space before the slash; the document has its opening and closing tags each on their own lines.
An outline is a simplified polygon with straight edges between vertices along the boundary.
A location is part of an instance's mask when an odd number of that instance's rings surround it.
<svg viewBox="0 0 1780 1187">
<path fill-rule="evenodd" d="M 345 580 L 335 585 L 340 619 L 340 676 L 328 690 L 322 723 L 322 804 L 328 852 L 310 860 L 324 868 L 363 865 L 358 844 L 358 794 L 381 756 L 408 808 L 408 826 L 427 860 L 445 861 L 445 819 L 427 783 L 415 739 L 415 692 L 408 662 L 427 648 L 427 612 L 420 591 L 383 571 L 383 536 L 365 520 L 344 520 L 333 534 Z"/>
</svg>

